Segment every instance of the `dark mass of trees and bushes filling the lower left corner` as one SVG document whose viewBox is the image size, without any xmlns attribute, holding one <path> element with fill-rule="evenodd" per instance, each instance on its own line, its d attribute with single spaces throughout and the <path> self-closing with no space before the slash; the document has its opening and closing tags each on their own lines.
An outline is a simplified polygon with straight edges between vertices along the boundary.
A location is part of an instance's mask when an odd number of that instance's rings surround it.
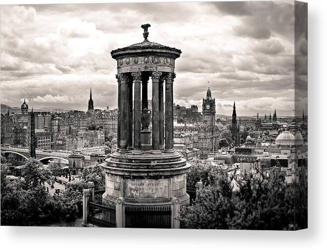
<svg viewBox="0 0 327 250">
<path fill-rule="evenodd" d="M 86 182 L 70 182 L 63 194 L 50 196 L 43 186 L 51 176 L 35 159 L 24 166 L 25 180 L 8 181 L 1 165 L 1 225 L 35 226 L 72 221 L 82 213 L 82 190 Z"/>
</svg>

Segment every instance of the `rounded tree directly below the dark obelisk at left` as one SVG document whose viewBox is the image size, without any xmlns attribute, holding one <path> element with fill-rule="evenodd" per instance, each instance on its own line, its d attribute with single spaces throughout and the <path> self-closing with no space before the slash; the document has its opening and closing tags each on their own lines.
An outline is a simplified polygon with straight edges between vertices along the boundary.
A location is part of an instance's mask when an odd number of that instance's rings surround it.
<svg viewBox="0 0 327 250">
<path fill-rule="evenodd" d="M 43 164 L 34 158 L 30 158 L 24 165 L 22 175 L 26 185 L 30 188 L 44 185 L 52 176 L 51 171 L 43 167 Z"/>
</svg>

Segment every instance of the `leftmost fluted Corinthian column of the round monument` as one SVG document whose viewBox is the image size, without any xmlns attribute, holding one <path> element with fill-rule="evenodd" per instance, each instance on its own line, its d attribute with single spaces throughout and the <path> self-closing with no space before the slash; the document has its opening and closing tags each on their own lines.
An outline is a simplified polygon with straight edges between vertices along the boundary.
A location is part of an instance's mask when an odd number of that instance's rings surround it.
<svg viewBox="0 0 327 250">
<path fill-rule="evenodd" d="M 120 82 L 120 102 L 119 102 L 119 145 L 121 150 L 126 150 L 128 146 L 128 98 L 127 85 L 129 77 L 127 74 L 118 74 L 118 82 Z"/>
</svg>

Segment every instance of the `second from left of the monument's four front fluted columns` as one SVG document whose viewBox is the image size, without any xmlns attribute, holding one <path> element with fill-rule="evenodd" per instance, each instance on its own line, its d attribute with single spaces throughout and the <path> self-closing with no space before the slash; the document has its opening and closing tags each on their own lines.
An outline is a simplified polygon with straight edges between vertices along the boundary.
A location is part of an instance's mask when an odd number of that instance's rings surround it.
<svg viewBox="0 0 327 250">
<path fill-rule="evenodd" d="M 141 73 L 132 73 L 134 78 L 134 149 L 141 150 Z"/>
</svg>

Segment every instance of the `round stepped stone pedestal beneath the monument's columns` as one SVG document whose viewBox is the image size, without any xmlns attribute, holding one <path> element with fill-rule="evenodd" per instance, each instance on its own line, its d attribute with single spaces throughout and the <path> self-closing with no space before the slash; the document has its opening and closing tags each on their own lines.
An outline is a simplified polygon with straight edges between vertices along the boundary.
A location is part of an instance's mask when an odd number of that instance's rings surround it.
<svg viewBox="0 0 327 250">
<path fill-rule="evenodd" d="M 160 155 L 116 152 L 102 167 L 106 202 L 115 203 L 122 197 L 126 206 L 168 206 L 176 197 L 182 205 L 189 203 L 186 173 L 190 165 L 177 152 Z"/>
</svg>

